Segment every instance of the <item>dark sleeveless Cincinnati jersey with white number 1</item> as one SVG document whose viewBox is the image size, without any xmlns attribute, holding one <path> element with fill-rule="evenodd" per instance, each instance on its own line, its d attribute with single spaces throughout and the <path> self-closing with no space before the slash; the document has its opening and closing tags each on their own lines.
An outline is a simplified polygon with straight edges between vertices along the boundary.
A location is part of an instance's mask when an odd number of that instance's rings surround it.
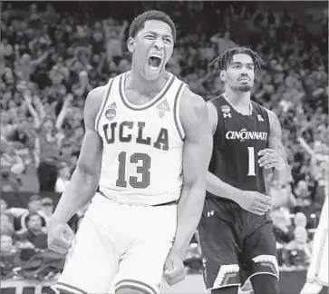
<svg viewBox="0 0 329 294">
<path fill-rule="evenodd" d="M 258 165 L 257 153 L 268 146 L 270 122 L 266 109 L 252 102 L 252 113 L 243 115 L 224 95 L 210 103 L 217 109 L 218 125 L 209 171 L 237 189 L 265 193 L 263 168 Z M 207 192 L 207 195 L 212 194 Z"/>
</svg>

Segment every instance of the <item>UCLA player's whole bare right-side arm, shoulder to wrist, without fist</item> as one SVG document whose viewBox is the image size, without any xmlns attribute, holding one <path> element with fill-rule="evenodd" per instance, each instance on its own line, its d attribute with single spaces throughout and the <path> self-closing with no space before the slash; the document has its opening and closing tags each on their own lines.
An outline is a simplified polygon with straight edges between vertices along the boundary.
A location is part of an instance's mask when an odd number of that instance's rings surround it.
<svg viewBox="0 0 329 294">
<path fill-rule="evenodd" d="M 211 154 L 208 111 L 201 97 L 186 89 L 180 103 L 185 132 L 183 150 L 184 184 L 178 205 L 178 224 L 171 251 L 183 258 L 201 217 Z"/>
</svg>

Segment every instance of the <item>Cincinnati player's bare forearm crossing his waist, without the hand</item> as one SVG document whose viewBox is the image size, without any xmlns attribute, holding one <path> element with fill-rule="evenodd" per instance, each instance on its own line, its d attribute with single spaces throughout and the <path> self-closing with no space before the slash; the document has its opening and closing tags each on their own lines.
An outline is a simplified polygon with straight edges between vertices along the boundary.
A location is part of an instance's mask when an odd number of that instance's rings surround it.
<svg viewBox="0 0 329 294">
<path fill-rule="evenodd" d="M 208 171 L 207 174 L 207 191 L 215 196 L 236 201 L 236 197 L 241 190 L 220 180 L 216 175 Z"/>
</svg>

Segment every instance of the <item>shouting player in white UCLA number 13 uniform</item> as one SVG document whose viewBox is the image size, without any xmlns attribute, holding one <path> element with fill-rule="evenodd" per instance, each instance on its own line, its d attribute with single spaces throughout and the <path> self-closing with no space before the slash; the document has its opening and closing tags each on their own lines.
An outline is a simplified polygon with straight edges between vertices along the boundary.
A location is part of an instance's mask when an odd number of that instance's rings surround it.
<svg viewBox="0 0 329 294">
<path fill-rule="evenodd" d="M 81 155 L 49 228 L 49 248 L 66 253 L 63 226 L 92 200 L 53 287 L 60 293 L 154 294 L 163 276 L 184 279 L 211 133 L 206 103 L 165 71 L 175 37 L 168 15 L 137 16 L 131 71 L 88 94 Z"/>
</svg>

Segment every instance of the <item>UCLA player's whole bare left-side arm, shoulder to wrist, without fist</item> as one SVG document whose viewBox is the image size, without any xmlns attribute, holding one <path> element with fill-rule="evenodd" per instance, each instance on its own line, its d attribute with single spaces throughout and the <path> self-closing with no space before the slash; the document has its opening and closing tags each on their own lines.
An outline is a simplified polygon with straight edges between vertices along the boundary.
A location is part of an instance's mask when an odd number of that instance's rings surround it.
<svg viewBox="0 0 329 294">
<path fill-rule="evenodd" d="M 86 132 L 71 181 L 53 214 L 53 221 L 66 223 L 73 214 L 92 200 L 97 189 L 102 164 L 102 138 L 95 131 L 96 115 L 101 107 L 104 87 L 92 90 L 84 106 Z"/>
</svg>

